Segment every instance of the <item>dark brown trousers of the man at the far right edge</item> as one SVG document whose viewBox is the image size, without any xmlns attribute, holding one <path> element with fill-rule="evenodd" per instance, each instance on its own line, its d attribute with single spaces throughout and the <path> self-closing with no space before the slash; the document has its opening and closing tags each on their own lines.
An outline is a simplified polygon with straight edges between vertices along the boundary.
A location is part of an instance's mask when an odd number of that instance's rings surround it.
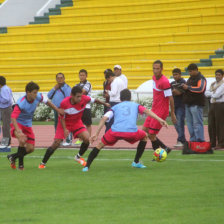
<svg viewBox="0 0 224 224">
<path fill-rule="evenodd" d="M 212 147 L 224 147 L 224 103 L 211 103 L 208 113 L 208 133 Z"/>
</svg>

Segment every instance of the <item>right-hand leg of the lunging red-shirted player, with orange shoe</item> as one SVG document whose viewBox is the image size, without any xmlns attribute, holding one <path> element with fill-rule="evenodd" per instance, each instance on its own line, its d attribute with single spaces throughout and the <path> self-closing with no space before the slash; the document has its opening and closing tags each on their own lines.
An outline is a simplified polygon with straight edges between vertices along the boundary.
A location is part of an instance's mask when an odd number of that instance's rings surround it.
<svg viewBox="0 0 224 224">
<path fill-rule="evenodd" d="M 78 154 L 75 156 L 75 160 L 80 163 L 82 166 L 86 165 L 86 161 L 82 156 L 86 152 L 86 150 L 89 147 L 89 132 L 88 131 L 83 131 L 78 134 L 77 136 L 79 139 L 82 140 L 82 144 L 80 146 Z"/>
</svg>

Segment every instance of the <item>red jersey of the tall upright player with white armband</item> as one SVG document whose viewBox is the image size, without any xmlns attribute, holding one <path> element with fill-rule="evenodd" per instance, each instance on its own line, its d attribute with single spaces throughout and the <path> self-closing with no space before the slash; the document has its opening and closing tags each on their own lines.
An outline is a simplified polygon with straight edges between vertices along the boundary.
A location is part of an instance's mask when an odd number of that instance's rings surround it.
<svg viewBox="0 0 224 224">
<path fill-rule="evenodd" d="M 160 115 L 169 115 L 169 96 L 172 96 L 171 86 L 166 76 L 156 79 L 153 75 L 153 103 L 152 111 Z"/>
</svg>

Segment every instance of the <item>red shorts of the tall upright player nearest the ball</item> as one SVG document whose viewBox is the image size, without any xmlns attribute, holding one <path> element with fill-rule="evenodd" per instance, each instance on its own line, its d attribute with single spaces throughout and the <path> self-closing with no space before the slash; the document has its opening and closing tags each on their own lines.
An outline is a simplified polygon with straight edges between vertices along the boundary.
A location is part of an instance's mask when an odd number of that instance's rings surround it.
<svg viewBox="0 0 224 224">
<path fill-rule="evenodd" d="M 166 118 L 168 117 L 167 114 L 157 114 L 157 116 L 162 118 L 163 120 L 166 120 Z M 160 129 L 162 128 L 162 125 L 159 123 L 159 121 L 150 116 L 145 119 L 145 123 L 143 126 L 149 129 L 149 134 L 158 134 Z"/>
</svg>

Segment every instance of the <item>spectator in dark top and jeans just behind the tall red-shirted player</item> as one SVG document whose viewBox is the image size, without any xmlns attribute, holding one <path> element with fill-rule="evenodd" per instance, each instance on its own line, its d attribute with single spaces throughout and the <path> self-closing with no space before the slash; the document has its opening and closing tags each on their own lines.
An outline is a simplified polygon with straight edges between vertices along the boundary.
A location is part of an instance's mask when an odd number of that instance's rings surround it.
<svg viewBox="0 0 224 224">
<path fill-rule="evenodd" d="M 185 122 L 185 105 L 183 103 L 183 93 L 184 90 L 181 87 L 186 81 L 181 77 L 181 70 L 175 68 L 173 70 L 173 78 L 175 81 L 171 82 L 171 88 L 174 99 L 175 115 L 177 118 L 177 123 L 175 124 L 175 129 L 178 134 L 177 144 L 174 147 L 181 147 L 186 141 L 184 133 L 184 122 Z"/>
</svg>

